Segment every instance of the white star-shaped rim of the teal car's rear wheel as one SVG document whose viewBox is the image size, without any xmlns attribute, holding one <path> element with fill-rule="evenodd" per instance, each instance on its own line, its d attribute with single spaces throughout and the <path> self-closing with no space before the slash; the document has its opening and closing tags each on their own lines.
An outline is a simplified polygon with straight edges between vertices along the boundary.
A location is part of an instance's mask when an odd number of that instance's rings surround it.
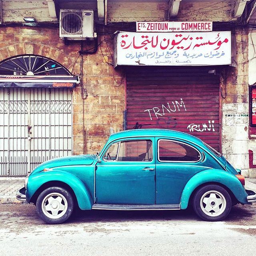
<svg viewBox="0 0 256 256">
<path fill-rule="evenodd" d="M 200 207 L 208 216 L 220 216 L 226 209 L 226 199 L 218 191 L 207 191 L 201 197 Z"/>
</svg>

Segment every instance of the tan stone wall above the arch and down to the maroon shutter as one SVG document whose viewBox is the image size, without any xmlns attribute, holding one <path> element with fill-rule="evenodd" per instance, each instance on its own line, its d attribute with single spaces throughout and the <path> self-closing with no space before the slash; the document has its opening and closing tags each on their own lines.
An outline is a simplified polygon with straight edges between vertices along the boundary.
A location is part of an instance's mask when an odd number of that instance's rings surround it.
<svg viewBox="0 0 256 256">
<path fill-rule="evenodd" d="M 70 71 L 73 69 L 73 74 L 80 74 L 80 43 L 66 46 L 58 32 L 50 28 L 1 27 L 0 61 L 20 54 L 38 54 L 56 60 Z M 88 131 L 85 149 L 92 153 L 101 150 L 107 136 L 123 129 L 124 77 L 112 66 L 113 40 L 99 38 L 104 39 L 96 54 L 84 56 L 84 88 L 88 97 L 82 99 L 81 86 L 73 90 L 74 154 L 84 152 L 83 130 Z"/>
</svg>

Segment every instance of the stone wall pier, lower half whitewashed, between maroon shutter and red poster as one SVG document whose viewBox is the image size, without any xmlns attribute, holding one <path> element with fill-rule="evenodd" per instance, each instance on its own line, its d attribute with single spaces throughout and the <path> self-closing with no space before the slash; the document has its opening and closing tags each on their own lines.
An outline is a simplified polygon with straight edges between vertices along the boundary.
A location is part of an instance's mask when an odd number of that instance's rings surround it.
<svg viewBox="0 0 256 256">
<path fill-rule="evenodd" d="M 236 44 L 237 68 L 226 68 L 222 76 L 222 93 L 225 94 L 225 86 L 227 93 L 222 98 L 222 152 L 248 176 L 248 31 L 236 31 L 233 44 Z"/>
</svg>

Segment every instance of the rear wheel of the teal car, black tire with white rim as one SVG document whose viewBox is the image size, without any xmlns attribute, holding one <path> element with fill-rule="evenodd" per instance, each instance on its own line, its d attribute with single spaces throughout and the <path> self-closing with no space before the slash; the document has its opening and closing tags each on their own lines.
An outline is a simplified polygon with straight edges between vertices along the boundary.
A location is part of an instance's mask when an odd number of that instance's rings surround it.
<svg viewBox="0 0 256 256">
<path fill-rule="evenodd" d="M 232 200 L 227 190 L 218 185 L 206 185 L 194 194 L 193 208 L 206 221 L 224 220 L 230 213 Z"/>
</svg>

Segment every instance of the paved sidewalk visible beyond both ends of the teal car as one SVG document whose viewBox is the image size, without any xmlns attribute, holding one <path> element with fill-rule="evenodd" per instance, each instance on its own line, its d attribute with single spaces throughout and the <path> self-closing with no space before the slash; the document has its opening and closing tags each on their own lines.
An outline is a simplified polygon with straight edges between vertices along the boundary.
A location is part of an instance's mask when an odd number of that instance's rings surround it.
<svg viewBox="0 0 256 256">
<path fill-rule="evenodd" d="M 25 178 L 0 178 L 0 204 L 21 203 L 16 199 L 16 191 L 24 186 Z M 246 178 L 245 186 L 256 191 L 256 179 Z"/>
</svg>

